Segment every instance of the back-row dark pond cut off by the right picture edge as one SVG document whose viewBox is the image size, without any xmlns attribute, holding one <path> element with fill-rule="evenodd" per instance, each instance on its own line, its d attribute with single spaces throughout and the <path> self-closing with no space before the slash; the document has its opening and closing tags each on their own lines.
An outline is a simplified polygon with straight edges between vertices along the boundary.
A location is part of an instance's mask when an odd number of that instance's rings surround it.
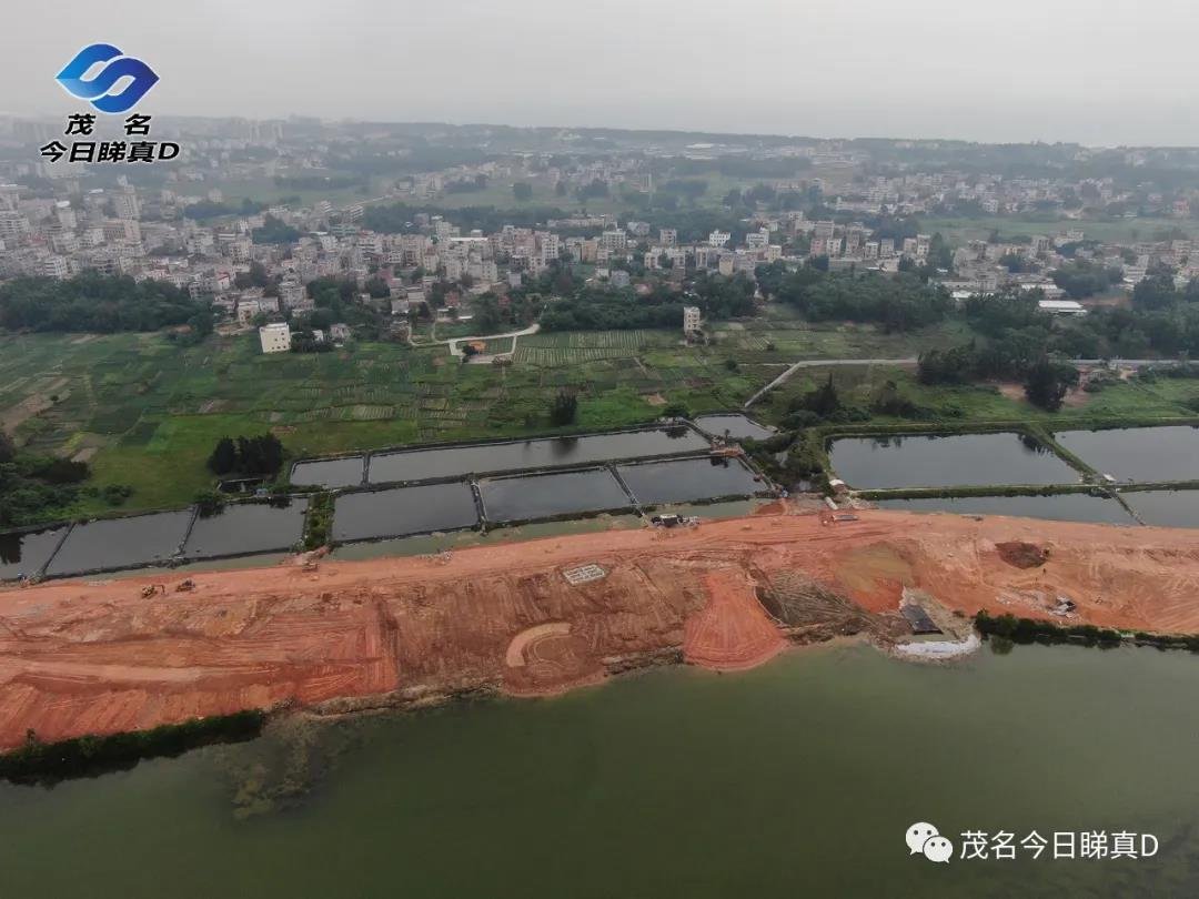
<svg viewBox="0 0 1199 899">
<path fill-rule="evenodd" d="M 1199 428 L 1067 430 L 1058 442 L 1117 481 L 1199 479 Z"/>
</svg>

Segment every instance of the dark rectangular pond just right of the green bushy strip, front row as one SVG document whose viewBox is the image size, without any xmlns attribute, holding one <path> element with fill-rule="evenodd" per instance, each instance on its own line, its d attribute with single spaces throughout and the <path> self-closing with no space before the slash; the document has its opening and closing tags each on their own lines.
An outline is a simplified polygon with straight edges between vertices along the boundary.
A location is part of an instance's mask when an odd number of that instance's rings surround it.
<svg viewBox="0 0 1199 899">
<path fill-rule="evenodd" d="M 337 497 L 333 539 L 364 541 L 453 531 L 478 521 L 470 485 L 457 482 L 353 493 Z"/>
</svg>

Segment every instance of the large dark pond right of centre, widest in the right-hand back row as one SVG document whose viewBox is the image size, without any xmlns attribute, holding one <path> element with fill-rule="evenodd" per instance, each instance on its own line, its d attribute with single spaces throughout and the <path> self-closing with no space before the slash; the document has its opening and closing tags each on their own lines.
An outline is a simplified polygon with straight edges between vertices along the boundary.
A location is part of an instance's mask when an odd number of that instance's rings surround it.
<svg viewBox="0 0 1199 899">
<path fill-rule="evenodd" d="M 829 451 L 837 477 L 850 487 L 964 487 L 1072 484 L 1078 472 L 1019 434 L 944 438 L 846 438 Z"/>
</svg>

